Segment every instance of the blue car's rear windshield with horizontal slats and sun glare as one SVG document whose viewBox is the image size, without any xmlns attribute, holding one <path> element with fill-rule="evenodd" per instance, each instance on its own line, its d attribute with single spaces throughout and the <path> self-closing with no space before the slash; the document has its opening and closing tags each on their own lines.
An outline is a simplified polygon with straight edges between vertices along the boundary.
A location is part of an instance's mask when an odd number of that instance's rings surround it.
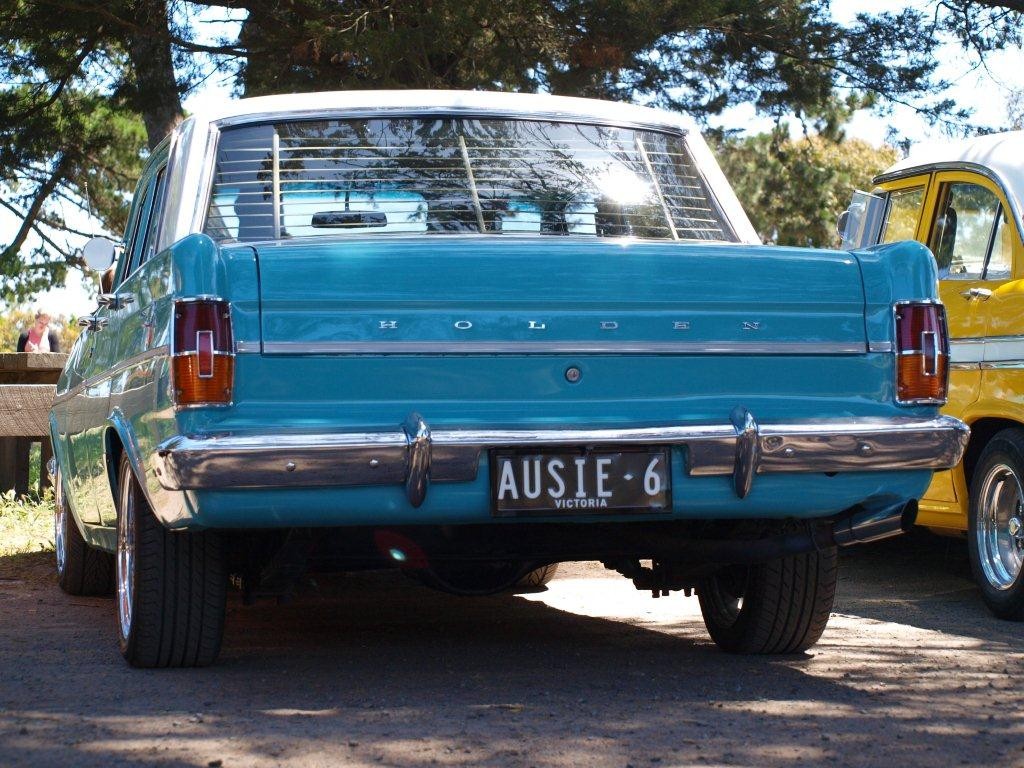
<svg viewBox="0 0 1024 768">
<path fill-rule="evenodd" d="M 206 232 L 735 240 L 682 135 L 461 118 L 225 129 Z"/>
</svg>

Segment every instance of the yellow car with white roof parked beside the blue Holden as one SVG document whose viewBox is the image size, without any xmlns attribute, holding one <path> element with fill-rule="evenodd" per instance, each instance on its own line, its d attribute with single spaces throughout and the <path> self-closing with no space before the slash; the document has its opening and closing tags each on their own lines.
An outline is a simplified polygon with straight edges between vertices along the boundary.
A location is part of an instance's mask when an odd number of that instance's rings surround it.
<svg viewBox="0 0 1024 768">
<path fill-rule="evenodd" d="M 935 474 L 918 523 L 967 531 L 986 604 L 1024 620 L 1024 132 L 912 153 L 874 185 L 841 220 L 845 245 L 931 249 L 951 341 L 943 412 L 971 426 L 963 461 Z"/>
</svg>

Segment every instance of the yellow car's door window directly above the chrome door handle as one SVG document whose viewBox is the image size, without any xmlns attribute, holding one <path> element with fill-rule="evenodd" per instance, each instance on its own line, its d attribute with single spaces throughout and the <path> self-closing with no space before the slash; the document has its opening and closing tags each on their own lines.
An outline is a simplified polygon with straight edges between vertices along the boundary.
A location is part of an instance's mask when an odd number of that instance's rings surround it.
<svg viewBox="0 0 1024 768">
<path fill-rule="evenodd" d="M 984 186 L 966 181 L 943 185 L 929 243 L 940 279 L 981 280 L 999 211 L 998 198 Z"/>
</svg>

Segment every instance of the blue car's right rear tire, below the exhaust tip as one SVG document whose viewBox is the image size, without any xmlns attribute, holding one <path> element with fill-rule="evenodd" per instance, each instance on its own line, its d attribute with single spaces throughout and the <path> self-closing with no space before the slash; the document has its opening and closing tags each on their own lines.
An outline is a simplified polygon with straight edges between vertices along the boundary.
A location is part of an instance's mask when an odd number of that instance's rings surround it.
<svg viewBox="0 0 1024 768">
<path fill-rule="evenodd" d="M 697 586 L 715 643 L 730 653 L 800 653 L 821 637 L 836 600 L 835 547 L 733 565 Z"/>
</svg>

